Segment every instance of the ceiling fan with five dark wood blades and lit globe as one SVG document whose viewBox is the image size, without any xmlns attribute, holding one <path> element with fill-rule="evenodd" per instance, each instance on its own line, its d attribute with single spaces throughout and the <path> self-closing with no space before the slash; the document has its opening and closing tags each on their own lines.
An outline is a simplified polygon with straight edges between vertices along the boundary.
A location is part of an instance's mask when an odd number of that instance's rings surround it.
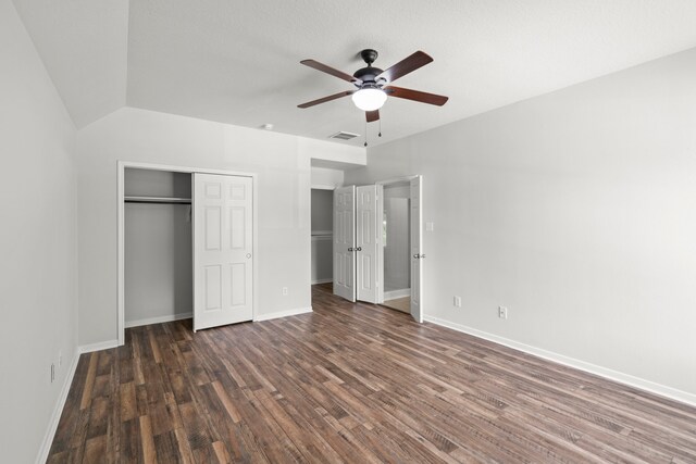
<svg viewBox="0 0 696 464">
<path fill-rule="evenodd" d="M 387 100 L 387 97 L 403 98 L 407 100 L 420 101 L 421 103 L 436 104 L 438 106 L 442 106 L 447 102 L 448 97 L 422 92 L 419 90 L 405 89 L 402 87 L 395 87 L 390 85 L 399 77 L 402 77 L 432 62 L 433 59 L 427 53 L 419 50 L 386 71 L 372 66 L 372 63 L 377 59 L 377 52 L 375 50 L 362 50 L 360 52 L 360 57 L 365 63 L 368 63 L 368 66 L 356 71 L 352 76 L 315 60 L 300 61 L 300 63 L 306 66 L 331 74 L 339 79 L 347 80 L 355 85 L 356 88 L 308 101 L 307 103 L 298 104 L 297 106 L 310 108 L 315 104 L 325 103 L 350 95 L 352 96 L 352 101 L 356 103 L 356 106 L 365 112 L 368 123 L 372 123 L 380 118 L 380 108 L 382 108 L 384 102 Z"/>
</svg>

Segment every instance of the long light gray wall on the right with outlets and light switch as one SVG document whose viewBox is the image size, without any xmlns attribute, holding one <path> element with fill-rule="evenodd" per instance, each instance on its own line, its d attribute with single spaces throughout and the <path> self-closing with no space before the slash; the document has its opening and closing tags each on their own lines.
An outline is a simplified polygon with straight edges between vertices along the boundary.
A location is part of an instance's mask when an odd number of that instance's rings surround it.
<svg viewBox="0 0 696 464">
<path fill-rule="evenodd" d="M 345 180 L 423 175 L 426 317 L 696 403 L 694 83 L 696 49 L 370 148 Z"/>
</svg>

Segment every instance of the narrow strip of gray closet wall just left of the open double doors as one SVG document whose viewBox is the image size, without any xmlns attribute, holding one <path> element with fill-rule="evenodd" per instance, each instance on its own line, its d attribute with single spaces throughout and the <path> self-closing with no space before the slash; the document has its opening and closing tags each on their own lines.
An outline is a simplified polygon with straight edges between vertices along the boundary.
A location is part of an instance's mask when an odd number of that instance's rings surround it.
<svg viewBox="0 0 696 464">
<path fill-rule="evenodd" d="M 333 240 L 334 191 L 312 189 L 312 266 L 311 283 L 326 283 L 334 278 Z"/>
</svg>

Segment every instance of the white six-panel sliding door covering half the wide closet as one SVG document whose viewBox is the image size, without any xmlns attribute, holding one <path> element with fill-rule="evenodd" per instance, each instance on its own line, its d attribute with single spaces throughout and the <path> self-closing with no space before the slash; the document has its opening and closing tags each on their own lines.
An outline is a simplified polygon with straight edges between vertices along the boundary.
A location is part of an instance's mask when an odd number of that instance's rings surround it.
<svg viewBox="0 0 696 464">
<path fill-rule="evenodd" d="M 252 179 L 194 174 L 194 330 L 253 317 Z"/>
</svg>

